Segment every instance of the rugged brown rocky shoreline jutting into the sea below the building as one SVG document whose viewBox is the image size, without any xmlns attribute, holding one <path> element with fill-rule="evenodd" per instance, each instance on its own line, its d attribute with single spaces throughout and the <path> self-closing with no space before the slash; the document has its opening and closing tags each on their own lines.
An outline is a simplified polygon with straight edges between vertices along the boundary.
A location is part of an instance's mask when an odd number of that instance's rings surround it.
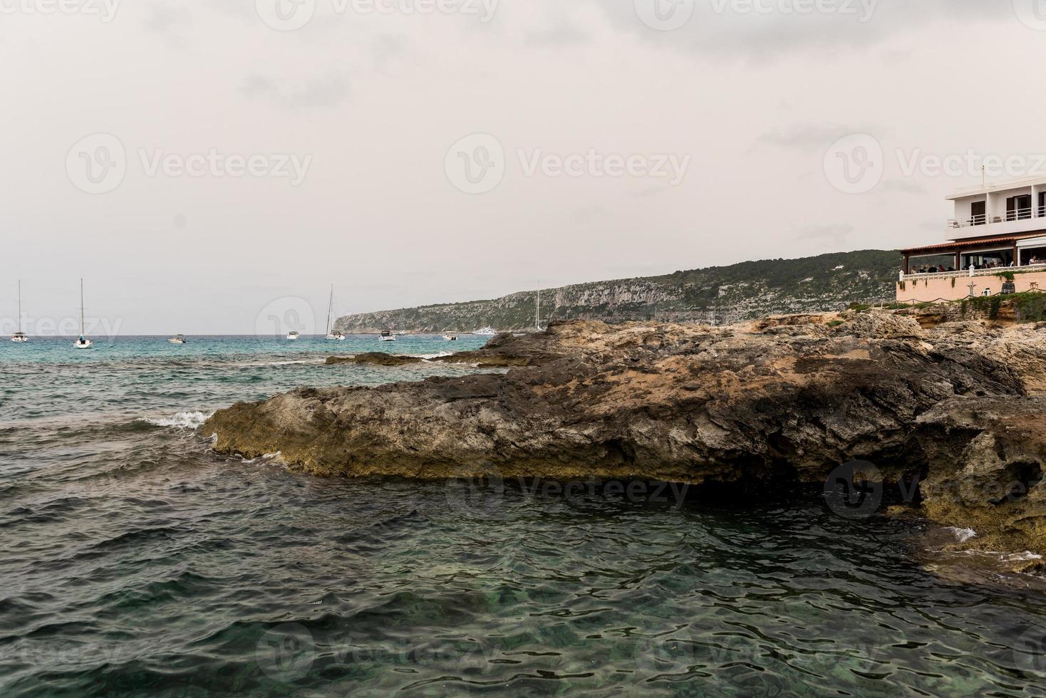
<svg viewBox="0 0 1046 698">
<path fill-rule="evenodd" d="M 219 452 L 278 451 L 327 476 L 816 483 L 843 515 L 884 513 L 877 492 L 897 486 L 900 513 L 976 532 L 956 549 L 1043 555 L 1046 325 L 996 318 L 953 304 L 727 327 L 560 323 L 434 359 L 506 372 L 303 388 L 203 431 Z M 400 359 L 328 363 L 343 360 Z"/>
</svg>

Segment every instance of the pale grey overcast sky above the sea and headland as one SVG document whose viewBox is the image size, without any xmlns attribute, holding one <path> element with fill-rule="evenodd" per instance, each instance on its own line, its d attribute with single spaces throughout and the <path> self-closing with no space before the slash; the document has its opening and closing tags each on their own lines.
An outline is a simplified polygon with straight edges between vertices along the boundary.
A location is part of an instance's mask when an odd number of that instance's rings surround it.
<svg viewBox="0 0 1046 698">
<path fill-rule="evenodd" d="M 1046 173 L 1038 0 L 59 2 L 0 0 L 5 331 L 18 278 L 37 322 L 83 276 L 122 334 L 296 298 L 321 331 L 332 282 L 347 313 L 931 243 L 983 158 Z"/>
</svg>

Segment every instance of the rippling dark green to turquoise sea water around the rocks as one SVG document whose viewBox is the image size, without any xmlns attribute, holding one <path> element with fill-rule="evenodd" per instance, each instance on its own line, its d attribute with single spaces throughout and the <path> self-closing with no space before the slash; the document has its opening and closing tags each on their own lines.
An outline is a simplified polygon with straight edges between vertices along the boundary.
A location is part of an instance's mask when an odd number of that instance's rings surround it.
<svg viewBox="0 0 1046 698">
<path fill-rule="evenodd" d="M 0 695 L 1046 693 L 1046 597 L 815 490 L 324 481 L 196 425 L 439 338 L 0 345 Z M 637 484 L 633 484 L 637 485 Z"/>
</svg>

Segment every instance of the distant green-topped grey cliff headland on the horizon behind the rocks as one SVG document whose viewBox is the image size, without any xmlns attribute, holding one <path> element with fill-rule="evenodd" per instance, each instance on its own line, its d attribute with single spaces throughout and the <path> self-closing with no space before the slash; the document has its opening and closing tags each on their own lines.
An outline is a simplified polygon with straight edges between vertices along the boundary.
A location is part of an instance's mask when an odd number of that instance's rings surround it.
<svg viewBox="0 0 1046 698">
<path fill-rule="evenodd" d="M 838 310 L 894 298 L 896 252 L 864 250 L 801 259 L 767 259 L 666 276 L 594 281 L 542 292 L 542 324 L 581 319 L 733 322 L 767 315 Z M 470 331 L 491 325 L 527 329 L 535 292 L 490 301 L 426 305 L 340 318 L 344 332 L 385 327 L 413 332 Z"/>
</svg>

